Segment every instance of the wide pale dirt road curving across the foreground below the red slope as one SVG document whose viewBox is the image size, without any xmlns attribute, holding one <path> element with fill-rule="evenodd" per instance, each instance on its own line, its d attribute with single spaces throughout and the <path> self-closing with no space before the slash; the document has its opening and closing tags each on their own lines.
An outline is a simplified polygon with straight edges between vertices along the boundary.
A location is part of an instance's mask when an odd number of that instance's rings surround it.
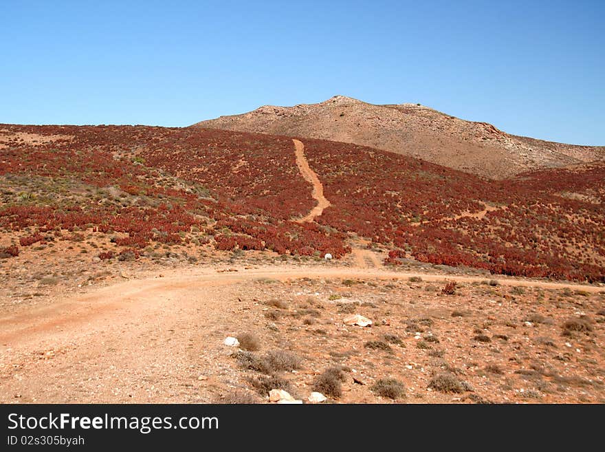
<svg viewBox="0 0 605 452">
<path fill-rule="evenodd" d="M 212 388 L 230 372 L 221 359 L 223 339 L 250 327 L 249 308 L 239 297 L 252 297 L 250 284 L 263 279 L 485 279 L 336 262 L 231 270 L 236 271 L 164 269 L 155 277 L 0 311 L 0 402 L 211 402 Z M 505 277 L 498 281 L 503 286 L 603 290 Z"/>
</svg>

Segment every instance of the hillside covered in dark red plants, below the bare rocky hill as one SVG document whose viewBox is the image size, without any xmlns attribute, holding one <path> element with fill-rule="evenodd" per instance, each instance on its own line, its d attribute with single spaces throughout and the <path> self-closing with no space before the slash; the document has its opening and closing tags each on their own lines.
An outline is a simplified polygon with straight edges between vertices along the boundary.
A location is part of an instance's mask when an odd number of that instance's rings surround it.
<svg viewBox="0 0 605 452">
<path fill-rule="evenodd" d="M 363 239 L 392 265 L 605 279 L 601 163 L 485 180 L 342 142 L 304 139 L 299 155 L 291 138 L 259 133 L 19 125 L 0 133 L 4 259 L 36 259 L 55 241 L 97 259 L 154 259 L 173 248 L 341 258 Z M 325 206 L 309 217 L 314 184 Z"/>
</svg>

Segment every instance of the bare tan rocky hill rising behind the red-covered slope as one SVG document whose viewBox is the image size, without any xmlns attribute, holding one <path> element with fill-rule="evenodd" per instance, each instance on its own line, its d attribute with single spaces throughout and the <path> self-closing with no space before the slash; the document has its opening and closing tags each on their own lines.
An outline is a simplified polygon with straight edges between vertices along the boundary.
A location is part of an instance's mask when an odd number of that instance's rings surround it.
<svg viewBox="0 0 605 452">
<path fill-rule="evenodd" d="M 490 178 L 603 160 L 605 147 L 509 135 L 415 104 L 372 105 L 345 96 L 294 107 L 263 106 L 192 127 L 321 138 L 361 144 Z"/>
</svg>

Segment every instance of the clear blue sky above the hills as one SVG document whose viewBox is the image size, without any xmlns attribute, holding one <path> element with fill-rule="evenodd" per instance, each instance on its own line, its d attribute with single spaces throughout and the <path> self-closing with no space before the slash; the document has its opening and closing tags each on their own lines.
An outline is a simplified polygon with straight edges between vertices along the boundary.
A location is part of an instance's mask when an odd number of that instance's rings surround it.
<svg viewBox="0 0 605 452">
<path fill-rule="evenodd" d="M 344 94 L 605 145 L 605 1 L 1 2 L 0 122 L 186 126 Z"/>
</svg>

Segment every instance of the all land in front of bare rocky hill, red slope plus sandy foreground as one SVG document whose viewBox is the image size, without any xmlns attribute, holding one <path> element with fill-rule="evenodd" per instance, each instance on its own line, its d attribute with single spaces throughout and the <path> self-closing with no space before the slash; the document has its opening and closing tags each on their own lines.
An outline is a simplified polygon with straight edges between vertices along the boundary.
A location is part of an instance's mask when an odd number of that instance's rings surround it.
<svg viewBox="0 0 605 452">
<path fill-rule="evenodd" d="M 0 399 L 605 402 L 605 164 L 580 160 L 487 180 L 304 136 L 0 125 Z"/>
</svg>

